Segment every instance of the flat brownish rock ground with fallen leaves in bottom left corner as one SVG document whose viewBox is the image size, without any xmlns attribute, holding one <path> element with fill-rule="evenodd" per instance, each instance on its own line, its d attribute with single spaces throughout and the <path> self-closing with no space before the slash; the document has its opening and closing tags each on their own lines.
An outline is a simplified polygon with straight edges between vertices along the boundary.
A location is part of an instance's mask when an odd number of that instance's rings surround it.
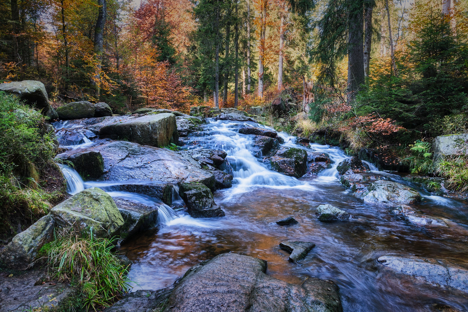
<svg viewBox="0 0 468 312">
<path fill-rule="evenodd" d="M 0 274 L 0 312 L 54 311 L 66 299 L 76 296 L 76 290 L 66 283 L 49 281 L 44 269 L 8 275 Z"/>
</svg>

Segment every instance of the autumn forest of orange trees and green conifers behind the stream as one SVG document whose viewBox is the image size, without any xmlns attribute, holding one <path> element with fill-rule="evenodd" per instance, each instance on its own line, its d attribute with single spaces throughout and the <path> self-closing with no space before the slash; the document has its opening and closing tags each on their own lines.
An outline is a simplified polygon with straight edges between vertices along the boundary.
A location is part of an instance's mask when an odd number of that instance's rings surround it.
<svg viewBox="0 0 468 312">
<path fill-rule="evenodd" d="M 330 131 L 350 152 L 468 131 L 467 1 L 9 0 L 0 13 L 0 80 L 40 80 L 55 106 L 248 109 L 310 81 L 292 112 L 306 120 L 280 128 Z"/>
</svg>

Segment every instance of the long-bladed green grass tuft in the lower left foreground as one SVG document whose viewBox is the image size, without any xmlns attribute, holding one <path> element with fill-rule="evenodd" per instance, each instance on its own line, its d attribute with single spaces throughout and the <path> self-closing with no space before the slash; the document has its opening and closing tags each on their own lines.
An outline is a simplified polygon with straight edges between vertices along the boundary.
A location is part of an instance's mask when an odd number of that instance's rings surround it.
<svg viewBox="0 0 468 312">
<path fill-rule="evenodd" d="M 81 237 L 72 229 L 55 233 L 47 252 L 49 274 L 79 288 L 80 302 L 89 311 L 108 307 L 129 289 L 128 266 L 112 252 L 114 239 Z"/>
</svg>

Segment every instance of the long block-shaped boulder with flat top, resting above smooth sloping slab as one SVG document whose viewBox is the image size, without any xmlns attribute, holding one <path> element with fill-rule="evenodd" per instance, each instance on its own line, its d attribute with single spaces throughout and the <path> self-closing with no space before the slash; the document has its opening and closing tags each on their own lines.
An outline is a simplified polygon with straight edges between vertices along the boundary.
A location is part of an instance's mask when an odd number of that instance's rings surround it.
<svg viewBox="0 0 468 312">
<path fill-rule="evenodd" d="M 113 139 L 126 138 L 142 145 L 160 147 L 178 140 L 173 138 L 174 132 L 177 135 L 176 116 L 162 113 L 111 123 L 103 126 L 99 134 Z"/>
</svg>

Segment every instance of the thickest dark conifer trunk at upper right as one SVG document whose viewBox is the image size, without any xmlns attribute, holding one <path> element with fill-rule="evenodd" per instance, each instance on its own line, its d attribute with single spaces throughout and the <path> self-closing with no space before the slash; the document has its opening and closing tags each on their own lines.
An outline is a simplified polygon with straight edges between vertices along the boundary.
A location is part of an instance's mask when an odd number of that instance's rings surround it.
<svg viewBox="0 0 468 312">
<path fill-rule="evenodd" d="M 347 102 L 351 102 L 364 83 L 364 18 L 363 2 L 359 1 L 348 20 L 348 88 Z"/>
</svg>

